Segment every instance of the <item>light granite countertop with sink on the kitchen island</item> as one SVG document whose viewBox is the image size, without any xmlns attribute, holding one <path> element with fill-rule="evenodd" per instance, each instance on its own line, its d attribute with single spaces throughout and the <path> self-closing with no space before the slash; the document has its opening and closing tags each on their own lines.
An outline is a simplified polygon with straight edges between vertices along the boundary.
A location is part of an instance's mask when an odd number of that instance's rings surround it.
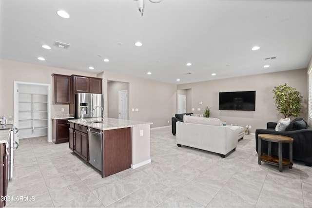
<svg viewBox="0 0 312 208">
<path fill-rule="evenodd" d="M 84 118 L 84 119 L 74 119 L 74 120 L 68 120 L 68 121 L 71 123 L 80 124 L 86 127 L 91 127 L 91 128 L 102 130 L 102 131 L 153 124 L 151 122 L 123 120 L 123 119 L 117 119 L 117 118 L 105 118 L 103 123 L 87 123 L 92 120 L 101 120 L 101 118 L 100 117 Z"/>
</svg>

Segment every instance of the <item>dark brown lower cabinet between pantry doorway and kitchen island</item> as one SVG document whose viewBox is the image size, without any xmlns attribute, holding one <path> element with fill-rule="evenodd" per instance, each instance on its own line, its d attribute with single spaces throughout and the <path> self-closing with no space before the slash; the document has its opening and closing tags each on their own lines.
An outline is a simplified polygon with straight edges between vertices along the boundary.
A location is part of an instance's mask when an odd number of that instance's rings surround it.
<svg viewBox="0 0 312 208">
<path fill-rule="evenodd" d="M 53 119 L 53 137 L 55 144 L 68 142 L 69 121 L 66 119 Z"/>
</svg>

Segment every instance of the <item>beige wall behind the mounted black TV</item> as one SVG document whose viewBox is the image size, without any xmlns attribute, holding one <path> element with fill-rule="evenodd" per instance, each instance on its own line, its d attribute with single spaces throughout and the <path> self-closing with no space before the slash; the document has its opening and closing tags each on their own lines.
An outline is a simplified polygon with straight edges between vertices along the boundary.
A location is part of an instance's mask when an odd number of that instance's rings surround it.
<svg viewBox="0 0 312 208">
<path fill-rule="evenodd" d="M 192 89 L 192 108 L 195 108 L 193 113 L 202 114 L 208 106 L 212 108 L 212 117 L 226 120 L 227 124 L 243 127 L 251 125 L 251 132 L 255 132 L 257 128 L 266 128 L 267 122 L 277 122 L 283 117 L 276 111 L 272 90 L 274 86 L 285 83 L 303 95 L 304 113 L 301 117 L 307 119 L 307 69 L 181 84 L 177 89 Z M 218 110 L 219 92 L 231 91 L 256 91 L 255 112 Z M 202 102 L 202 105 L 199 105 L 199 102 Z M 197 111 L 197 108 L 201 108 L 201 111 Z"/>
</svg>

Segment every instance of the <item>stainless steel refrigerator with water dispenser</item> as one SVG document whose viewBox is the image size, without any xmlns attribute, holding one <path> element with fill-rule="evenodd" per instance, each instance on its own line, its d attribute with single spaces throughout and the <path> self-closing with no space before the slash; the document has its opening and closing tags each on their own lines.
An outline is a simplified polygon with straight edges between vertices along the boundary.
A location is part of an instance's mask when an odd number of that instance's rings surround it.
<svg viewBox="0 0 312 208">
<path fill-rule="evenodd" d="M 103 108 L 103 95 L 93 93 L 76 93 L 75 94 L 75 119 L 104 117 L 101 108 L 96 108 L 94 113 L 92 110 L 95 107 Z"/>
</svg>

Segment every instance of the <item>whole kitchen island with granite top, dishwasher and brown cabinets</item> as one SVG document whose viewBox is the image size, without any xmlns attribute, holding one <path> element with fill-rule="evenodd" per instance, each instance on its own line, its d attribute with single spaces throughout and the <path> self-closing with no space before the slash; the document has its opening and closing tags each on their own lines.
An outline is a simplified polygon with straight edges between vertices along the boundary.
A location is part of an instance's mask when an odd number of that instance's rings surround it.
<svg viewBox="0 0 312 208">
<path fill-rule="evenodd" d="M 150 122 L 116 118 L 68 120 L 69 148 L 106 177 L 151 162 Z"/>
</svg>

